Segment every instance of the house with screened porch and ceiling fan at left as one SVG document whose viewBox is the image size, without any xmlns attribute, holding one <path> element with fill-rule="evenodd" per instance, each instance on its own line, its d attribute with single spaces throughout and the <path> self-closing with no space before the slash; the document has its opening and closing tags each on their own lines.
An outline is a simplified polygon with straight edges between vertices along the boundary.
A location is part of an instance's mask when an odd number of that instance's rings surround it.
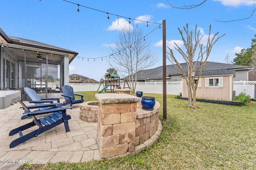
<svg viewBox="0 0 256 170">
<path fill-rule="evenodd" d="M 75 51 L 6 35 L 0 29 L 0 89 L 46 88 L 45 82 L 68 84 L 68 65 Z M 45 96 L 47 97 L 47 90 Z"/>
</svg>

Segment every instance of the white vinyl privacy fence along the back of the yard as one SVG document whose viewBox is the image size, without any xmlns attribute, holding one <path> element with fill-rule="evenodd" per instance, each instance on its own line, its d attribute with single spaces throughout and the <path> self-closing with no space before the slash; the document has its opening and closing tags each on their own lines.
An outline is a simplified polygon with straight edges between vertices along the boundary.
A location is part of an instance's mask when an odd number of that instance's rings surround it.
<svg viewBox="0 0 256 170">
<path fill-rule="evenodd" d="M 255 84 L 256 81 L 235 81 L 234 82 L 234 91 L 236 92 L 236 96 L 240 92 L 245 92 L 249 94 L 251 98 L 255 98 Z M 58 83 L 48 83 L 48 87 L 52 88 L 53 90 L 56 88 L 56 85 L 59 86 Z M 94 84 L 94 83 L 69 83 L 70 86 L 73 87 L 74 92 L 81 92 L 81 91 L 97 91 L 99 89 L 102 90 L 103 84 Z M 124 87 L 124 84 L 120 84 L 121 88 Z M 130 84 L 129 84 L 130 86 Z M 100 87 L 100 88 L 99 88 Z M 125 87 L 128 87 L 127 84 Z M 162 94 L 163 93 L 163 82 L 141 82 L 136 84 L 135 91 L 142 91 L 144 93 L 156 93 Z M 166 82 L 166 93 L 167 94 L 174 94 L 178 95 L 182 92 L 182 82 Z"/>
</svg>

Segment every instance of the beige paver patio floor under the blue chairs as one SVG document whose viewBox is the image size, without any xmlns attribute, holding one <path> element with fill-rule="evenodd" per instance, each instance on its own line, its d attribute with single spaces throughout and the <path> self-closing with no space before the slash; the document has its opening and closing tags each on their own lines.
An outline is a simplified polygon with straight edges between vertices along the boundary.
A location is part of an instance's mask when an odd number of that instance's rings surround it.
<svg viewBox="0 0 256 170">
<path fill-rule="evenodd" d="M 28 102 L 25 104 L 31 105 Z M 62 123 L 38 137 L 10 149 L 11 141 L 18 138 L 18 134 L 9 137 L 9 132 L 32 121 L 32 119 L 20 119 L 23 113 L 20 106 L 19 103 L 16 103 L 6 109 L 0 109 L 0 160 L 15 163 L 2 164 L 1 162 L 0 169 L 15 169 L 25 162 L 46 164 L 48 162 L 85 162 L 101 159 L 96 142 L 97 123 L 82 121 L 79 118 L 80 104 L 74 105 L 73 109 L 67 109 L 67 113 L 71 115 L 71 119 L 68 121 L 69 132 L 65 131 Z M 32 131 L 35 128 L 29 130 Z"/>
</svg>

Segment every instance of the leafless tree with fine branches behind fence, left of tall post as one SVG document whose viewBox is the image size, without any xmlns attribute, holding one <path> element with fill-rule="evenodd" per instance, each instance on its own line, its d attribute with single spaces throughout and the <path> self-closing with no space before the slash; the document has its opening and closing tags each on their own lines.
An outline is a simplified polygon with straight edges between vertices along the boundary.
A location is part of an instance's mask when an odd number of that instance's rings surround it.
<svg viewBox="0 0 256 170">
<path fill-rule="evenodd" d="M 156 54 L 150 49 L 150 42 L 143 36 L 143 31 L 138 25 L 122 27 L 116 45 L 111 48 L 112 54 L 108 64 L 118 70 L 123 76 L 127 76 L 134 93 L 137 82 L 137 72 L 153 66 L 158 60 Z"/>
</svg>

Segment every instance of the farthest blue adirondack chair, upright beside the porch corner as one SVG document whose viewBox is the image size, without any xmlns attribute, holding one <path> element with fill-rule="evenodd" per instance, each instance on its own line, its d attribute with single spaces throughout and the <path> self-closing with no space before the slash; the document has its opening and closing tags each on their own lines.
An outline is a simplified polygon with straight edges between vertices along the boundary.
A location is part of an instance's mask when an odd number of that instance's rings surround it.
<svg viewBox="0 0 256 170">
<path fill-rule="evenodd" d="M 72 106 L 72 104 L 77 104 L 77 103 L 82 103 L 84 102 L 84 95 L 83 94 L 74 94 L 73 88 L 71 86 L 68 85 L 64 85 L 62 86 L 62 95 L 65 98 L 65 102 L 63 102 L 63 105 L 68 105 L 70 104 L 70 106 Z M 80 96 L 81 99 L 75 99 L 75 95 L 76 96 Z"/>
</svg>

